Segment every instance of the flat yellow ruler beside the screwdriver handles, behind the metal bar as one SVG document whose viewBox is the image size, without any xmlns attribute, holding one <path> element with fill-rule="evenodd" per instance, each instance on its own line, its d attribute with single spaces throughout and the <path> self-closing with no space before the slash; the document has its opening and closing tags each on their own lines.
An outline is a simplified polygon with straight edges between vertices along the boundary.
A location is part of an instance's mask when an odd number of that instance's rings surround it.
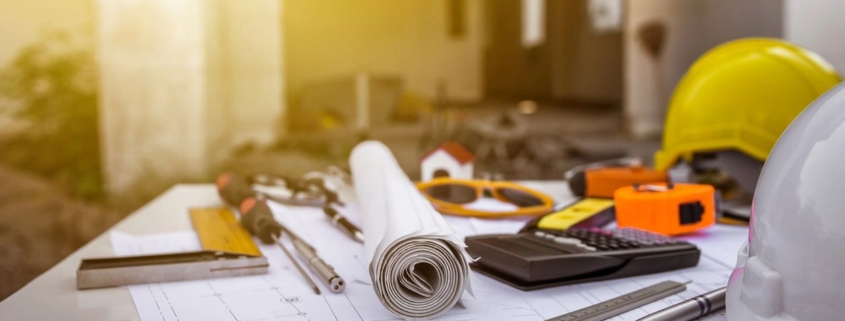
<svg viewBox="0 0 845 321">
<path fill-rule="evenodd" d="M 262 255 L 252 235 L 228 207 L 192 208 L 190 213 L 203 250 Z"/>
</svg>

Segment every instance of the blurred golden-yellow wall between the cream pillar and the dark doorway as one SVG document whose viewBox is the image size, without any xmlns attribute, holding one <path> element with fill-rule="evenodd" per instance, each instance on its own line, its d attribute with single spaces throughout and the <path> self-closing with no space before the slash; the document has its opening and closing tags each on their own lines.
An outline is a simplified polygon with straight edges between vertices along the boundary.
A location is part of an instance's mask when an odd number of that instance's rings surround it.
<svg viewBox="0 0 845 321">
<path fill-rule="evenodd" d="M 409 89 L 481 98 L 482 1 L 464 1 L 465 29 L 451 38 L 447 0 L 285 1 L 287 85 L 291 94 L 358 72 L 400 75 Z"/>
</svg>

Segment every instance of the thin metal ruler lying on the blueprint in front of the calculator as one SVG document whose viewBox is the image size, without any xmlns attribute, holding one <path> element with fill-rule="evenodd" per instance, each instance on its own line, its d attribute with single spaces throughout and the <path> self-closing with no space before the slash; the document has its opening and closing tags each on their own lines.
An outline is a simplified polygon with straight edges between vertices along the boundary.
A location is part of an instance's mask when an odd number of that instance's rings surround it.
<svg viewBox="0 0 845 321">
<path fill-rule="evenodd" d="M 689 283 L 689 282 L 687 282 Z M 655 285 L 628 293 L 557 316 L 546 321 L 600 321 L 639 308 L 670 295 L 683 292 L 687 283 L 663 281 Z"/>
</svg>

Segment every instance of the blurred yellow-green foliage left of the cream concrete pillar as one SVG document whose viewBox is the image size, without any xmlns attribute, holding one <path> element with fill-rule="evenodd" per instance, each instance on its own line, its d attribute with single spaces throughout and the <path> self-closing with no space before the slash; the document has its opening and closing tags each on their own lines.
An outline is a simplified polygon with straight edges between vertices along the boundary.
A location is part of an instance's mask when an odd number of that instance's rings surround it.
<svg viewBox="0 0 845 321">
<path fill-rule="evenodd" d="M 21 49 L 0 69 L 0 112 L 22 127 L 0 136 L 0 160 L 78 197 L 102 197 L 91 48 L 53 33 Z"/>
</svg>

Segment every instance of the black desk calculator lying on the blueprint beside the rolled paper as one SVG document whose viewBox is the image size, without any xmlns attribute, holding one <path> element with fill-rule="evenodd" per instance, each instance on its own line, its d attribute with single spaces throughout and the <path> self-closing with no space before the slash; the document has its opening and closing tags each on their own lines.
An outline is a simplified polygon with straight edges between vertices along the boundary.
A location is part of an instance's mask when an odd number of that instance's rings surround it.
<svg viewBox="0 0 845 321">
<path fill-rule="evenodd" d="M 686 241 L 633 228 L 533 230 L 466 238 L 473 270 L 521 290 L 609 280 L 698 265 Z"/>
</svg>

